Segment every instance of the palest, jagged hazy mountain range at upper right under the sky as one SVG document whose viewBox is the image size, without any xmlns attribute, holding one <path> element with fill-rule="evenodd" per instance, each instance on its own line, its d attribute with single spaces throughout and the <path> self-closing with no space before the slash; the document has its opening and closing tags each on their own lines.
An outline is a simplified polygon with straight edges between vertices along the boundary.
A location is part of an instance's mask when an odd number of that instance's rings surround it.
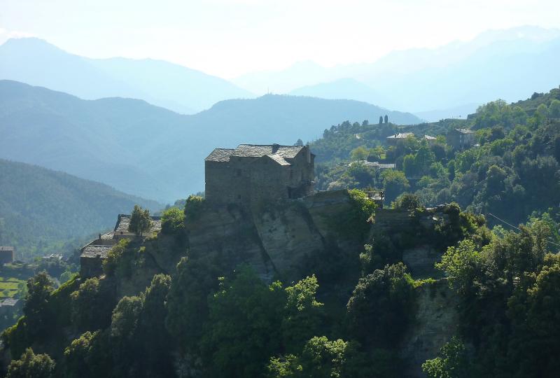
<svg viewBox="0 0 560 378">
<path fill-rule="evenodd" d="M 472 41 L 439 48 L 393 51 L 371 63 L 323 67 L 299 62 L 283 71 L 247 73 L 232 81 L 255 93 L 310 93 L 364 101 L 363 86 L 379 94 L 375 104 L 413 113 L 454 109 L 502 98 L 507 102 L 560 83 L 560 30 L 515 27 L 491 30 Z M 339 83 L 354 80 L 353 88 Z M 338 97 L 341 98 L 341 97 Z"/>
</svg>

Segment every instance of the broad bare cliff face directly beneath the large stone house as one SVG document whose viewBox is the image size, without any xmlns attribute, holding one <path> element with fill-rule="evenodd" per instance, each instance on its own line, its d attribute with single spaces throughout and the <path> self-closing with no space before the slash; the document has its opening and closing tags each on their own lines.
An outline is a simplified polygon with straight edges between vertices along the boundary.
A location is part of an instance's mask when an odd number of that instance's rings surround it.
<svg viewBox="0 0 560 378">
<path fill-rule="evenodd" d="M 187 223 L 189 253 L 216 254 L 232 267 L 248 263 L 267 281 L 300 279 L 304 259 L 325 248 L 327 239 L 344 250 L 363 249 L 363 240 L 337 235 L 329 222 L 351 206 L 347 191 L 337 190 L 260 208 L 208 207 Z"/>
</svg>

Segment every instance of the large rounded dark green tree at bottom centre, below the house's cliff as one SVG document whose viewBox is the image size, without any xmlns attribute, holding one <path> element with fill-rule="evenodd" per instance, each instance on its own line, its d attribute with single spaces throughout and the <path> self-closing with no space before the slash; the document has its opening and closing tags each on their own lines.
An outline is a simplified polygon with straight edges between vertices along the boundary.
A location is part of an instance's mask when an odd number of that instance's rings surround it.
<svg viewBox="0 0 560 378">
<path fill-rule="evenodd" d="M 241 267 L 209 299 L 202 355 L 212 377 L 258 377 L 280 349 L 281 283 L 267 286 L 249 267 Z"/>
</svg>

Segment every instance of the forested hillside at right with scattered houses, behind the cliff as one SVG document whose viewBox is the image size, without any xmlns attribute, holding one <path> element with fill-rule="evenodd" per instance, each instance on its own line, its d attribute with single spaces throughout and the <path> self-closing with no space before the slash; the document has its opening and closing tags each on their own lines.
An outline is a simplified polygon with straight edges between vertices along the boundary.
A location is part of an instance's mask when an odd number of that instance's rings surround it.
<svg viewBox="0 0 560 378">
<path fill-rule="evenodd" d="M 445 134 L 475 130 L 476 146 L 454 151 Z M 386 137 L 414 132 L 396 146 Z M 437 137 L 428 144 L 425 134 Z M 311 144 L 317 154 L 319 189 L 384 188 L 388 201 L 415 193 L 423 204 L 458 202 L 475 214 L 493 214 L 518 224 L 533 211 L 557 217 L 560 203 L 560 90 L 535 93 L 506 104 L 490 102 L 468 120 L 409 127 L 342 123 Z M 379 171 L 363 160 L 395 163 Z M 489 217 L 491 223 L 496 218 Z"/>
</svg>

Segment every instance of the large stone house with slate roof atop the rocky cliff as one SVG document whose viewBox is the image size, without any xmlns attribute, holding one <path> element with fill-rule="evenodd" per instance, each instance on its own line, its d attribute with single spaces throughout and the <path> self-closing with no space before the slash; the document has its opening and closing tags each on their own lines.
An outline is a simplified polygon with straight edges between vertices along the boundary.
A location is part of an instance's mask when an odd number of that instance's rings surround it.
<svg viewBox="0 0 560 378">
<path fill-rule="evenodd" d="M 313 193 L 315 155 L 309 146 L 240 144 L 216 148 L 204 160 L 211 204 L 256 204 Z"/>
</svg>

